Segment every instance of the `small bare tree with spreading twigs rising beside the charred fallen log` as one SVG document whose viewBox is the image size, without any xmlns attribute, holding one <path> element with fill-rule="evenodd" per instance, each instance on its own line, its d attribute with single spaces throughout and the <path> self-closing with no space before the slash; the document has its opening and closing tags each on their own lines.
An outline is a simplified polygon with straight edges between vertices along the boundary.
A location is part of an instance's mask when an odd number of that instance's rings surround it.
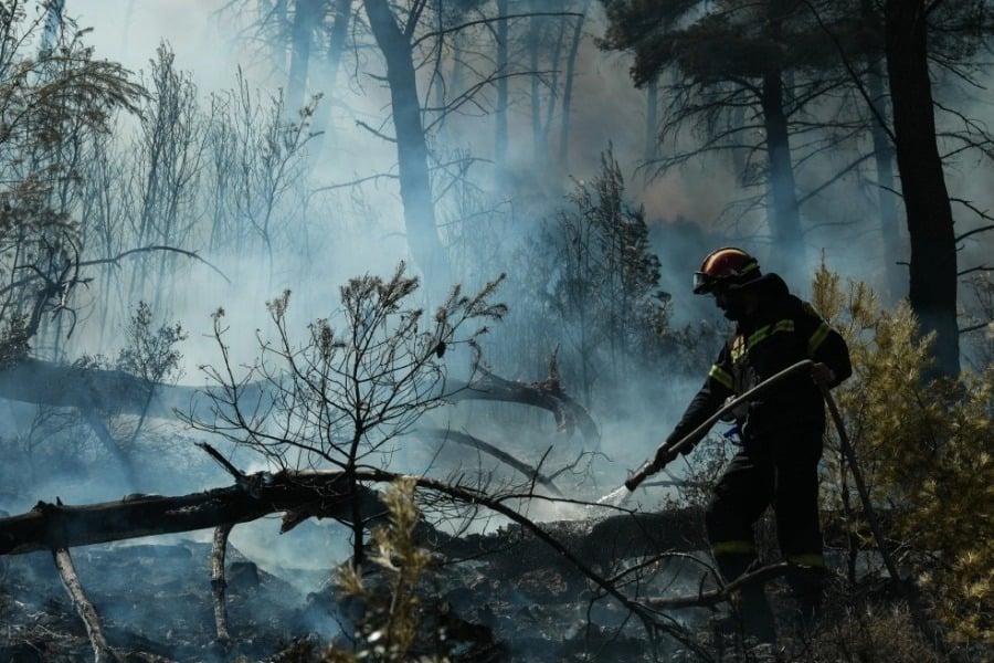
<svg viewBox="0 0 994 663">
<path fill-rule="evenodd" d="M 188 419 L 278 467 L 339 469 L 358 494 L 356 472 L 389 465 L 402 435 L 445 402 L 446 352 L 475 345 L 486 332 L 464 327 L 503 317 L 505 307 L 490 302 L 498 283 L 468 296 L 455 287 L 432 313 L 409 307 L 420 283 L 403 264 L 390 278 L 352 278 L 340 292 L 340 317 L 315 320 L 302 343 L 287 328 L 287 291 L 267 305 L 276 338 L 260 339 L 261 356 L 243 375 L 235 373 L 239 361 L 229 356 L 219 311 L 214 335 L 222 360 L 203 367 L 214 385 L 213 413 Z M 266 386 L 264 396 L 246 400 L 250 382 Z M 363 518 L 358 502 L 353 508 L 358 562 Z"/>
</svg>

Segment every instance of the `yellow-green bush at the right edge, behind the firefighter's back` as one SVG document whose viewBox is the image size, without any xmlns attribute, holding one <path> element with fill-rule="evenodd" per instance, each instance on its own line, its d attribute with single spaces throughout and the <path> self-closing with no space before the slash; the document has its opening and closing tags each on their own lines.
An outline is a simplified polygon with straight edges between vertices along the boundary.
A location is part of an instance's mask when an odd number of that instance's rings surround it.
<svg viewBox="0 0 994 663">
<path fill-rule="evenodd" d="M 932 337 L 906 304 L 884 311 L 824 267 L 814 293 L 849 343 L 854 376 L 836 398 L 900 566 L 954 638 L 994 642 L 994 366 L 929 381 Z M 837 452 L 831 466 L 842 494 Z"/>
</svg>

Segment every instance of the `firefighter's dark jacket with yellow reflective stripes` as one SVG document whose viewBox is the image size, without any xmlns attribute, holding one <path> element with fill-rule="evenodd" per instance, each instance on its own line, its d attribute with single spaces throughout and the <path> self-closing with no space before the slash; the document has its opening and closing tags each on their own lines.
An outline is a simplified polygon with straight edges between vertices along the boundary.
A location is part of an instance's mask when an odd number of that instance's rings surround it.
<svg viewBox="0 0 994 663">
<path fill-rule="evenodd" d="M 831 387 L 852 375 L 846 341 L 810 304 L 792 295 L 779 275 L 765 274 L 747 287 L 759 294 L 759 311 L 738 323 L 667 444 L 679 442 L 729 397 L 744 393 L 804 359 L 832 369 L 835 382 Z M 752 400 L 745 415 L 739 417 L 739 424 L 745 440 L 795 425 L 824 430 L 822 391 L 806 371 L 801 371 Z"/>
</svg>

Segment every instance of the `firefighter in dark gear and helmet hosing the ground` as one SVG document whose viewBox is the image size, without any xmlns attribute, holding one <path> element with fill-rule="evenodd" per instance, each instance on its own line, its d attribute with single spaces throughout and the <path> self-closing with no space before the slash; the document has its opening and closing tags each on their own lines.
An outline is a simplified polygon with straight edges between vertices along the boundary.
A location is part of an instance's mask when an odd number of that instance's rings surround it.
<svg viewBox="0 0 994 663">
<path fill-rule="evenodd" d="M 781 554 L 794 565 L 787 582 L 802 625 L 810 625 L 819 610 L 825 577 L 817 469 L 825 433 L 822 387 L 835 387 L 849 377 L 848 348 L 779 275 L 763 274 L 759 262 L 741 249 L 711 252 L 694 275 L 694 293 L 712 295 L 734 323 L 734 332 L 659 446 L 655 464 L 672 462 L 678 455 L 672 446 L 727 399 L 799 361 L 813 361 L 810 375 L 803 371 L 783 380 L 736 413 L 740 446 L 716 484 L 705 515 L 718 571 L 729 582 L 755 562 L 753 525 L 768 506 L 773 507 Z M 688 453 L 699 441 L 683 445 L 679 453 Z M 745 633 L 772 642 L 774 621 L 762 585 L 747 585 L 734 599 Z"/>
</svg>

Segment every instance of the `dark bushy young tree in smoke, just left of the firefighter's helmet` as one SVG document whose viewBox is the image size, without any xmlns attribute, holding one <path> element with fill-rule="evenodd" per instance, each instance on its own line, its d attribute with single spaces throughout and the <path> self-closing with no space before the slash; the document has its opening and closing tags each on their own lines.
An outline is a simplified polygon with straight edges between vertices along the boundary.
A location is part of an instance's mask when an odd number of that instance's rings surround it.
<svg viewBox="0 0 994 663">
<path fill-rule="evenodd" d="M 569 201 L 546 221 L 527 262 L 528 282 L 542 293 L 537 319 L 554 325 L 549 334 L 565 341 L 567 381 L 591 402 L 598 382 L 615 388 L 659 357 L 669 308 L 657 291 L 660 265 L 644 210 L 627 201 L 610 149 L 596 177 L 575 181 Z"/>
</svg>

